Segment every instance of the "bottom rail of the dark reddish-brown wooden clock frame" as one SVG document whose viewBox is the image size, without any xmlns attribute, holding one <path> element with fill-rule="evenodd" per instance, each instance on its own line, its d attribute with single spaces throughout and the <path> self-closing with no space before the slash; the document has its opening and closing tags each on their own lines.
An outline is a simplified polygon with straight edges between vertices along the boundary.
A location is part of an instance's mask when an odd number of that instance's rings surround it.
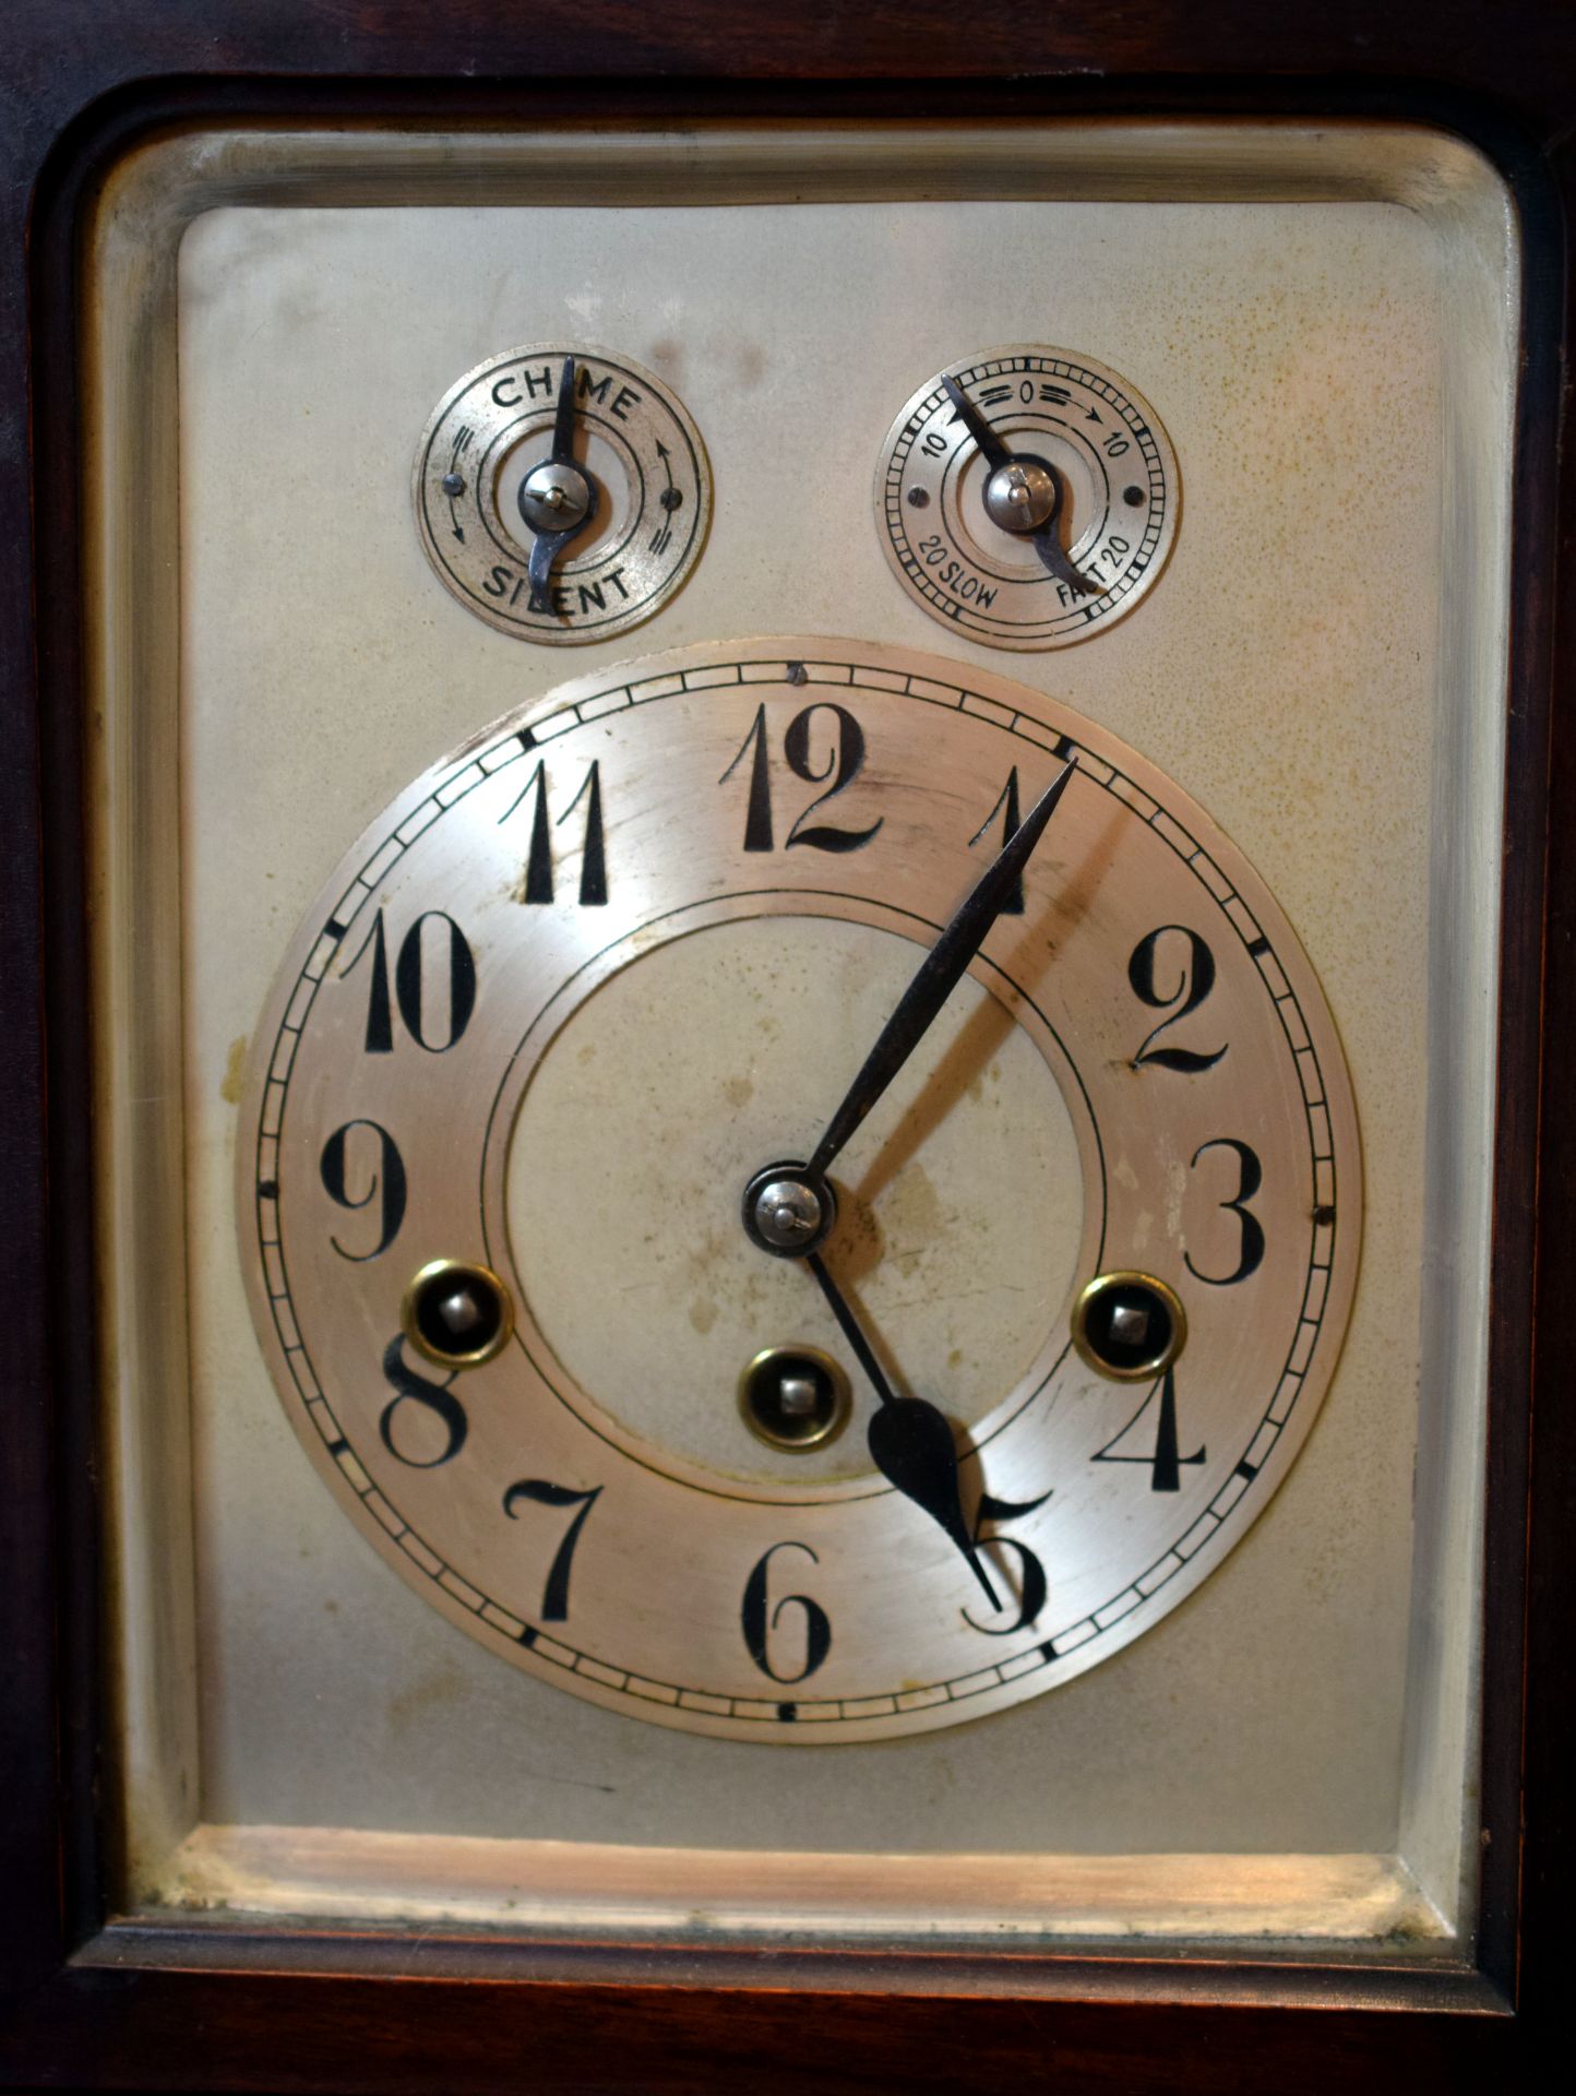
<svg viewBox="0 0 1576 2096">
<path fill-rule="evenodd" d="M 1268 1991 L 1211 1960 L 1157 1972 L 1121 1958 L 1071 1960 L 1054 1993 L 981 1960 L 975 1987 L 939 1960 L 849 1972 L 845 1960 L 694 1951 L 553 1953 L 520 1981 L 513 1953 L 476 1939 L 428 1951 L 306 1935 L 296 1960 L 231 1937 L 197 1966 L 73 1966 L 73 1987 L 29 2004 L 25 2042 L 61 2081 L 109 2086 L 392 2092 L 532 2088 L 788 2092 L 985 2088 L 1010 2077 L 1123 2096 L 1201 2096 L 1331 2086 L 1379 2090 L 1396 2075 L 1448 2092 L 1519 2088 L 1517 2029 L 1482 1981 L 1442 1972 L 1398 2014 L 1348 1974 L 1301 1970 Z M 581 1977 L 576 1964 L 597 1966 Z M 866 1962 L 870 1958 L 866 1956 Z M 907 1968 L 910 1960 L 897 1960 Z M 1023 1960 L 1023 1966 L 1060 1960 Z M 1025 1985 L 1014 1989 L 1014 1981 Z M 1065 1983 L 1063 1983 L 1065 1981 Z M 189 2033 L 201 2031 L 201 2048 Z M 216 2075 L 218 2067 L 218 2075 Z M 1383 2077 L 1383 2079 L 1381 2079 Z"/>
</svg>

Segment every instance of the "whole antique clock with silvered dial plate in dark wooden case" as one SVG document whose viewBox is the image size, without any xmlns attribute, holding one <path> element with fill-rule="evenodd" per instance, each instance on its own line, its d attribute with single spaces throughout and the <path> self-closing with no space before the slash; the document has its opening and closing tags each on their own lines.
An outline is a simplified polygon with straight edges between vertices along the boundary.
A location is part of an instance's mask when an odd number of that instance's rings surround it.
<svg viewBox="0 0 1576 2096">
<path fill-rule="evenodd" d="M 1006 1995 L 1088 2086 L 1228 1995 L 1285 2086 L 1509 2071 L 1545 176 L 1410 88 L 526 103 L 375 17 L 40 189 L 105 1817 L 23 2073 L 239 2086 L 289 1972 L 467 2086 L 480 1974 L 549 2086 L 713 2012 L 803 2079 L 782 1985 L 870 2086 Z M 289 2086 L 404 2086 L 350 2021 Z"/>
</svg>

